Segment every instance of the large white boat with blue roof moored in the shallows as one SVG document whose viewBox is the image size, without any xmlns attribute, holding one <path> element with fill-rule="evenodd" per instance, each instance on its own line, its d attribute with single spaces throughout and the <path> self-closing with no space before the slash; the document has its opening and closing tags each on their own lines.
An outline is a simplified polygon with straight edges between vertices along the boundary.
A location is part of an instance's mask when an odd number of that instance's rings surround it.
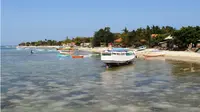
<svg viewBox="0 0 200 112">
<path fill-rule="evenodd" d="M 101 52 L 101 60 L 108 66 L 129 64 L 134 61 L 136 55 L 128 48 L 112 48 Z"/>
</svg>

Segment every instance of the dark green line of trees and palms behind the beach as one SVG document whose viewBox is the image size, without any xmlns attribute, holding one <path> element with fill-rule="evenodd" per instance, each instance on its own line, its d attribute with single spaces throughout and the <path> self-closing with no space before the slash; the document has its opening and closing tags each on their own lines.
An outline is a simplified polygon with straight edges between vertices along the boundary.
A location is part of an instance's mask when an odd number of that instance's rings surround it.
<svg viewBox="0 0 200 112">
<path fill-rule="evenodd" d="M 93 37 L 75 37 L 65 40 L 39 40 L 37 42 L 22 42 L 19 45 L 26 46 L 42 46 L 42 45 L 62 45 L 74 42 L 76 45 L 81 43 L 91 43 L 93 47 L 107 46 L 108 43 L 120 45 L 122 47 L 139 47 L 146 45 L 148 47 L 158 46 L 159 42 L 165 40 L 167 36 L 171 35 L 173 40 L 171 42 L 180 49 L 186 49 L 190 43 L 197 44 L 200 40 L 200 26 L 187 26 L 176 29 L 171 26 L 146 26 L 145 28 L 137 28 L 129 30 L 126 27 L 121 32 L 111 32 L 110 27 L 101 28 L 94 32 Z M 116 39 L 121 38 L 121 42 L 115 42 Z"/>
</svg>

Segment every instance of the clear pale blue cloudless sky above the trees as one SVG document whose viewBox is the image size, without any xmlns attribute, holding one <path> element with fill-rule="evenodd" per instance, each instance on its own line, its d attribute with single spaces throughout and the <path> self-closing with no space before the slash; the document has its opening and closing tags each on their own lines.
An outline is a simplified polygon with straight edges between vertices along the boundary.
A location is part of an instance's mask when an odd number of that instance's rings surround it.
<svg viewBox="0 0 200 112">
<path fill-rule="evenodd" d="M 200 0 L 1 0 L 2 45 L 147 25 L 200 25 Z"/>
</svg>

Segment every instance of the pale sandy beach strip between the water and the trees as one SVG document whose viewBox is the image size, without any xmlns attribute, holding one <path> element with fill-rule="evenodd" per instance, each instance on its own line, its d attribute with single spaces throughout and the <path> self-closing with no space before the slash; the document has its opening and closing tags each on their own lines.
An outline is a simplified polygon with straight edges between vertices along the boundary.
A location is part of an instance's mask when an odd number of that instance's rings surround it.
<svg viewBox="0 0 200 112">
<path fill-rule="evenodd" d="M 16 48 L 59 48 L 64 46 L 17 46 Z M 87 51 L 87 52 L 93 52 L 93 53 L 101 53 L 103 50 L 107 50 L 107 47 L 95 47 L 95 48 L 86 48 L 86 47 L 77 47 L 80 51 Z M 137 49 L 132 49 L 135 51 L 138 58 L 145 59 L 143 56 L 144 54 L 150 52 L 151 50 L 155 50 L 153 48 L 151 49 L 145 49 L 142 51 L 137 51 Z M 175 61 L 185 61 L 185 62 L 192 62 L 200 64 L 200 53 L 195 52 L 188 52 L 188 51 L 167 51 L 167 50 L 160 50 L 162 51 L 165 56 L 161 57 L 165 60 L 175 60 Z M 151 58 L 154 59 L 154 58 Z M 155 58 L 156 59 L 156 58 Z"/>
</svg>

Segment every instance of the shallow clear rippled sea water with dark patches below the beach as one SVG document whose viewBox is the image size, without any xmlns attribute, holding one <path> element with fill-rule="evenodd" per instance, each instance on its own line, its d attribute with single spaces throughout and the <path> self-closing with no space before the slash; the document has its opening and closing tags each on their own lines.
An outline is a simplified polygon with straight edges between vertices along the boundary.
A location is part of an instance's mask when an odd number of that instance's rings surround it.
<svg viewBox="0 0 200 112">
<path fill-rule="evenodd" d="M 81 54 L 88 54 L 81 52 Z M 105 69 L 100 57 L 1 49 L 2 112 L 199 112 L 200 65 L 141 60 Z"/>
</svg>

